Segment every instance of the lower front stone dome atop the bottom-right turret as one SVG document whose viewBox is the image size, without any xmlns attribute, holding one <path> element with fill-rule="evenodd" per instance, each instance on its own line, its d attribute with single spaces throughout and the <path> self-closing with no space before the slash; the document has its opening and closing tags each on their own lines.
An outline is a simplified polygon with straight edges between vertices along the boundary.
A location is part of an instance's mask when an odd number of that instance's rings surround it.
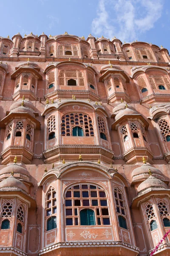
<svg viewBox="0 0 170 256">
<path fill-rule="evenodd" d="M 138 194 L 141 194 L 146 189 L 149 188 L 156 188 L 156 189 L 168 189 L 167 184 L 165 184 L 163 181 L 157 179 L 156 177 L 153 177 L 152 175 L 149 176 L 146 180 L 144 180 L 138 187 L 137 191 Z"/>
</svg>

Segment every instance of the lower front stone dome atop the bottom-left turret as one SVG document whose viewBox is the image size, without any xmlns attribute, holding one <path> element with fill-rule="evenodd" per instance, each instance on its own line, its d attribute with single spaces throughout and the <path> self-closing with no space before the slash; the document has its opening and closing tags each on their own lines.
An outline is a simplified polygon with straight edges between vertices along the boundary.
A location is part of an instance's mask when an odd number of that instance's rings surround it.
<svg viewBox="0 0 170 256">
<path fill-rule="evenodd" d="M 22 189 L 28 193 L 27 187 L 20 180 L 17 180 L 13 176 L 10 176 L 7 179 L 0 182 L 0 189 L 7 188 L 7 187 Z"/>
</svg>

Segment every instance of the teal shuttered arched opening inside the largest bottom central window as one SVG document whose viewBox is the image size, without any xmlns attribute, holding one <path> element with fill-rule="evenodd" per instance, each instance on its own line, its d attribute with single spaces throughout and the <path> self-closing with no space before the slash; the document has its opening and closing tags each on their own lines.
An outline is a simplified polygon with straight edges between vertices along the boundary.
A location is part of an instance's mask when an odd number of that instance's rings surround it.
<svg viewBox="0 0 170 256">
<path fill-rule="evenodd" d="M 94 211 L 91 209 L 84 209 L 80 211 L 80 225 L 90 226 L 96 225 Z"/>
</svg>

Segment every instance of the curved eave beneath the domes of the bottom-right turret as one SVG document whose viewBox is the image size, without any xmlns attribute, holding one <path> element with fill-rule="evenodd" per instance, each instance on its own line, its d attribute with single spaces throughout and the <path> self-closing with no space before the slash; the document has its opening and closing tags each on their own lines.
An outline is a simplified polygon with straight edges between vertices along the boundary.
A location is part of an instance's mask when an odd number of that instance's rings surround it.
<svg viewBox="0 0 170 256">
<path fill-rule="evenodd" d="M 158 188 L 149 188 L 146 189 L 142 194 L 133 198 L 131 207 L 136 208 L 139 207 L 139 204 L 147 197 L 149 198 L 151 195 L 168 195 L 170 197 L 170 189 L 158 189 Z"/>
</svg>

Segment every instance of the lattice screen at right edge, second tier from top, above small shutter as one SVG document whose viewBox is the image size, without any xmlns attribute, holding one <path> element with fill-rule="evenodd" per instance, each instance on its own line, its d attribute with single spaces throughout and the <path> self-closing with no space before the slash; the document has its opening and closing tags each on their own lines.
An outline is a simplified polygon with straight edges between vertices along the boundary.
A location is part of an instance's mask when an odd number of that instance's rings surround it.
<svg viewBox="0 0 170 256">
<path fill-rule="evenodd" d="M 170 81 L 167 76 L 149 76 L 149 81 L 154 90 L 159 89 L 159 85 L 163 85 L 166 89 L 170 90 Z"/>
</svg>

